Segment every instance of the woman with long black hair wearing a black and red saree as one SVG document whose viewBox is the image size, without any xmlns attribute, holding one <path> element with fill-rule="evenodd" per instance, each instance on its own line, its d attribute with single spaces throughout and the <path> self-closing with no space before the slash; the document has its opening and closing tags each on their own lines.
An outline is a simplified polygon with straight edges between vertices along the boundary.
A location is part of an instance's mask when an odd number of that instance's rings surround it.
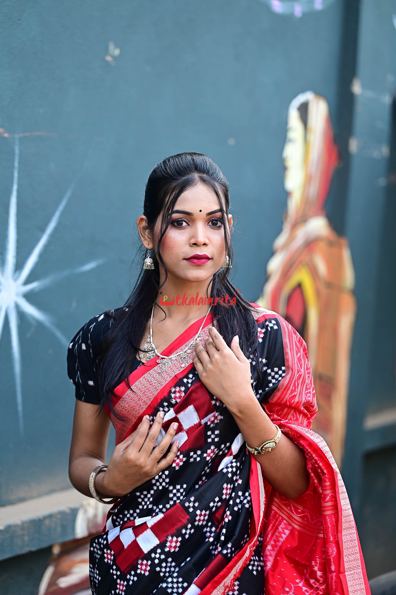
<svg viewBox="0 0 396 595">
<path fill-rule="evenodd" d="M 92 593 L 369 593 L 344 484 L 310 430 L 305 343 L 227 279 L 228 211 L 211 159 L 164 159 L 137 221 L 141 278 L 71 340 L 70 480 L 116 499 L 91 540 Z"/>
</svg>

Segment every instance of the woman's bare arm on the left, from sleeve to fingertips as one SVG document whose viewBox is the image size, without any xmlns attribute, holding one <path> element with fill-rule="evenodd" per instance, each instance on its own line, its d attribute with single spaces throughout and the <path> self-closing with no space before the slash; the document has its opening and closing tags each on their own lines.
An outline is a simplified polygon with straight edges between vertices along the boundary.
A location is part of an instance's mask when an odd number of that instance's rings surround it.
<svg viewBox="0 0 396 595">
<path fill-rule="evenodd" d="M 106 461 L 110 419 L 105 412 L 96 417 L 97 409 L 97 405 L 76 400 L 68 474 L 71 484 L 85 496 L 91 496 L 89 475 L 95 467 L 104 465 Z M 158 412 L 150 428 L 149 418 L 145 416 L 138 428 L 117 444 L 107 470 L 96 475 L 95 489 L 98 496 L 124 496 L 172 464 L 177 455 L 179 440 L 172 444 L 169 452 L 168 448 L 176 434 L 177 423 L 170 425 L 163 439 L 154 448 L 163 418 L 164 412 Z"/>
</svg>

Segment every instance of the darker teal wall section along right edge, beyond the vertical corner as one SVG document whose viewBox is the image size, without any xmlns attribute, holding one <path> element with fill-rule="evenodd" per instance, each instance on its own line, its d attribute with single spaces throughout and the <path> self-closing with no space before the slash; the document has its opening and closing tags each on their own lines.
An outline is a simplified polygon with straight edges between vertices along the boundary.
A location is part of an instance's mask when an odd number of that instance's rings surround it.
<svg viewBox="0 0 396 595">
<path fill-rule="evenodd" d="M 358 311 L 342 474 L 369 577 L 396 567 L 395 15 L 394 0 L 360 3 L 345 209 Z"/>
</svg>

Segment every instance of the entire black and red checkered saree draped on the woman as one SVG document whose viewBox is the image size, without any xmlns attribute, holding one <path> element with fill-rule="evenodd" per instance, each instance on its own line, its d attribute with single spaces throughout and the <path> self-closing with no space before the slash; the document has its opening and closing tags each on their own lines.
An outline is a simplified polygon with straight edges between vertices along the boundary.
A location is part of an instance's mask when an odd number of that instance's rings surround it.
<svg viewBox="0 0 396 595">
<path fill-rule="evenodd" d="M 316 398 L 303 339 L 282 317 L 260 308 L 260 361 L 251 384 L 273 422 L 304 451 L 308 490 L 291 500 L 264 479 L 230 412 L 198 377 L 192 358 L 161 371 L 157 358 L 114 391 L 124 421 L 111 417 L 116 444 L 164 411 L 179 426 L 172 465 L 113 505 L 92 538 L 95 595 L 365 595 L 369 586 L 345 486 L 325 441 L 311 431 Z M 162 355 L 183 349 L 203 317 Z M 210 336 L 211 321 L 201 331 Z M 214 320 L 216 327 L 216 320 Z M 263 370 L 258 380 L 258 363 Z"/>
</svg>

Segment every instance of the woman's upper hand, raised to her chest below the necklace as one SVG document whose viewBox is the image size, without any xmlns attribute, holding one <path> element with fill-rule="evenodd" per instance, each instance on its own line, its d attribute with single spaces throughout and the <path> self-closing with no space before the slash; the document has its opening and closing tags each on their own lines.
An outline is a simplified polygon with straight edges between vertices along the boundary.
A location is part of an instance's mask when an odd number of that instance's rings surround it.
<svg viewBox="0 0 396 595">
<path fill-rule="evenodd" d="M 205 341 L 207 352 L 197 341 L 192 361 L 205 387 L 232 411 L 241 405 L 241 399 L 252 394 L 250 362 L 239 347 L 237 336 L 229 347 L 216 328 L 210 327 L 209 334 Z"/>
</svg>

